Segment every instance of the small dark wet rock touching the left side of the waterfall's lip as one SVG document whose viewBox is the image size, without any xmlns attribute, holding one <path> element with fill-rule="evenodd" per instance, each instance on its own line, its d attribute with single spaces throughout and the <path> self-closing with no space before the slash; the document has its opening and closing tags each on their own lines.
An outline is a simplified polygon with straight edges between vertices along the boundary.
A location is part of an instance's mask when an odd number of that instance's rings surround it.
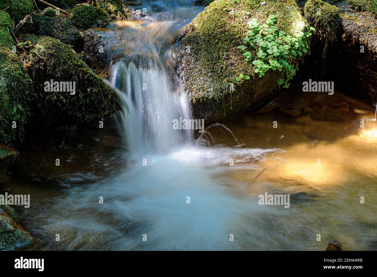
<svg viewBox="0 0 377 277">
<path fill-rule="evenodd" d="M 103 37 L 89 29 L 82 34 L 85 62 L 95 70 L 101 78 L 107 78 L 110 73 L 110 59 L 105 51 L 107 45 Z"/>
</svg>

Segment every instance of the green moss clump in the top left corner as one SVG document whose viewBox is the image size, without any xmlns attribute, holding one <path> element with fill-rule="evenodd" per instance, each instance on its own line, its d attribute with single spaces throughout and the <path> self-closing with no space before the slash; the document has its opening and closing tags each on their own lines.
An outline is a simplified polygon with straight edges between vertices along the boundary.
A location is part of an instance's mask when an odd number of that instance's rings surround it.
<svg viewBox="0 0 377 277">
<path fill-rule="evenodd" d="M 32 14 L 34 9 L 34 3 L 32 0 L 2 0 L 0 1 L 0 10 L 6 9 L 14 23 L 17 23 L 23 19 L 26 15 Z"/>
</svg>

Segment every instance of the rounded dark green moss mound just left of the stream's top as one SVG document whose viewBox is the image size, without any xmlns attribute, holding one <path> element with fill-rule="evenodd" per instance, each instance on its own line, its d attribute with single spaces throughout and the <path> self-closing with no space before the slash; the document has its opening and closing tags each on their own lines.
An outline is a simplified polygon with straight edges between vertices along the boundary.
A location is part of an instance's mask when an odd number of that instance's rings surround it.
<svg viewBox="0 0 377 277">
<path fill-rule="evenodd" d="M 80 5 L 72 10 L 72 20 L 80 29 L 105 27 L 109 24 L 109 15 L 97 7 Z"/>
</svg>

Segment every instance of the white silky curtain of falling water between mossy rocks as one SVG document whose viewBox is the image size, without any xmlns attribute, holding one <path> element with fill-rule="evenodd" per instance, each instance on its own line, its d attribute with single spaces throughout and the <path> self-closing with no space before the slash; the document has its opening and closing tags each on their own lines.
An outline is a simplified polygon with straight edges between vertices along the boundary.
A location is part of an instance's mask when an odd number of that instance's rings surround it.
<svg viewBox="0 0 377 277">
<path fill-rule="evenodd" d="M 119 127 L 130 153 L 166 152 L 192 141 L 192 130 L 173 130 L 173 119 L 191 117 L 191 106 L 182 89 L 173 91 L 164 68 L 119 61 L 112 80 L 122 92 Z"/>
</svg>

